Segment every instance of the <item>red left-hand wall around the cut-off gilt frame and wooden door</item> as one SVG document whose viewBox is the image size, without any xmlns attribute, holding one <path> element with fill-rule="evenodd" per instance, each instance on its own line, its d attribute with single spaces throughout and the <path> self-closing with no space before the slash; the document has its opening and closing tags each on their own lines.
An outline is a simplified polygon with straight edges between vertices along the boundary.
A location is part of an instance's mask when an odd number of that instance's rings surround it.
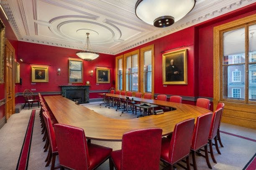
<svg viewBox="0 0 256 170">
<path fill-rule="evenodd" d="M 5 37 L 10 41 L 10 43 L 15 48 L 15 58 L 18 54 L 18 40 L 10 27 L 10 24 L 8 23 L 8 20 L 6 20 L 3 11 L 0 10 L 0 19 L 3 21 L 5 25 Z M 15 87 L 16 89 L 16 87 Z M 16 90 L 15 90 L 16 91 Z M 5 98 L 5 83 L 0 84 L 0 100 Z M 0 106 L 0 119 L 2 119 L 5 116 L 5 105 Z"/>
</svg>

